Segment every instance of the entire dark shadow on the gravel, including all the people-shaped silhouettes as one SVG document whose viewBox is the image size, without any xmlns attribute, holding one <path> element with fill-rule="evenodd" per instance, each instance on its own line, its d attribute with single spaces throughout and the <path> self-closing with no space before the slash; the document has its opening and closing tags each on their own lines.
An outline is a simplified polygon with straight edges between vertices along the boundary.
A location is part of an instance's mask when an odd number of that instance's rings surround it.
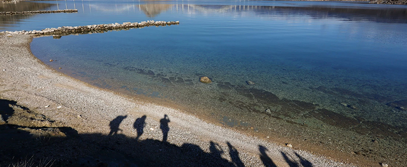
<svg viewBox="0 0 407 167">
<path fill-rule="evenodd" d="M 70 127 L 29 127 L 7 123 L 7 118 L 13 114 L 13 108 L 18 106 L 15 101 L 0 99 L 0 114 L 5 124 L 0 125 L 0 166 L 8 167 L 17 161 L 31 158 L 35 163 L 52 161 L 56 167 L 244 167 L 237 149 L 227 142 L 231 161 L 222 158 L 227 154 L 215 142 L 209 142 L 209 152 L 200 146 L 184 143 L 182 146 L 167 142 L 170 127 L 168 115 L 160 120 L 163 139 L 144 139 L 143 134 L 146 116 L 136 119 L 134 128 L 137 137 L 128 137 L 119 128 L 127 117 L 117 116 L 110 122 L 109 135 L 98 133 L 78 134 Z M 18 106 L 20 107 L 20 106 Z M 27 108 L 24 110 L 31 112 Z M 34 131 L 34 132 L 33 132 Z M 64 135 L 33 135 L 40 134 Z M 266 154 L 268 149 L 259 145 L 260 159 L 265 167 L 276 167 Z M 300 155 L 281 152 L 290 167 L 312 167 L 313 165 Z M 47 159 L 45 159 L 47 158 Z M 299 160 L 299 161 L 298 161 Z M 37 162 L 38 161 L 38 162 Z"/>
</svg>

